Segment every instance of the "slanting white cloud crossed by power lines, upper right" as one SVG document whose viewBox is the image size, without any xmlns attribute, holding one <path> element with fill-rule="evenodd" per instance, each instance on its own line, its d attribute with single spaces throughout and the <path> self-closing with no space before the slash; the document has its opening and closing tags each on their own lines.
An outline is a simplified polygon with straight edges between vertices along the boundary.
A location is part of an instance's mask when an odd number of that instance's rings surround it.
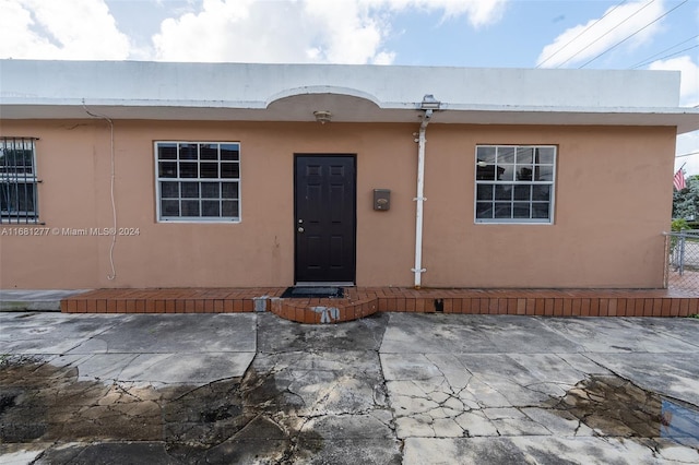
<svg viewBox="0 0 699 465">
<path fill-rule="evenodd" d="M 584 63 L 649 25 L 664 12 L 662 0 L 637 0 L 612 7 L 600 19 L 592 19 L 565 31 L 544 47 L 536 62 L 544 68 Z M 651 24 L 628 39 L 623 47 L 643 44 L 660 27 L 661 22 Z"/>
</svg>

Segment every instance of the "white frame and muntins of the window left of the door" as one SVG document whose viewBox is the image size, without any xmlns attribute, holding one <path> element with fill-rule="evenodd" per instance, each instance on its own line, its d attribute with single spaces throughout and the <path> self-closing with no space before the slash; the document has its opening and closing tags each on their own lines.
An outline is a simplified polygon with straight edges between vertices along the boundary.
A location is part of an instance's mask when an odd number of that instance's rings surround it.
<svg viewBox="0 0 699 465">
<path fill-rule="evenodd" d="M 161 159 L 159 158 L 159 150 L 158 147 L 165 145 L 175 145 L 177 147 L 177 156 L 175 159 Z M 180 159 L 180 151 L 182 146 L 186 145 L 197 145 L 198 156 L 196 159 Z M 201 157 L 201 147 L 205 145 L 217 145 L 218 157 L 216 160 L 212 159 L 202 159 Z M 238 159 L 237 160 L 222 160 L 221 159 L 221 146 L 222 145 L 235 145 L 237 146 Z M 154 160 L 155 160 L 155 210 L 156 210 L 156 218 L 158 223 L 240 223 L 241 220 L 241 200 L 240 200 L 240 142 L 220 142 L 220 141 L 155 141 L 153 143 L 153 152 L 154 152 Z M 197 164 L 197 177 L 180 177 L 181 165 L 180 163 L 190 163 Z M 217 164 L 217 177 L 201 177 L 201 165 L 203 163 L 212 164 L 216 162 Z M 161 176 L 161 163 L 175 163 L 177 166 L 177 174 L 175 177 L 169 176 Z M 223 177 L 222 176 L 222 165 L 237 165 L 237 177 Z M 178 184 L 178 195 L 173 198 L 163 199 L 162 187 L 163 182 L 173 182 Z M 211 182 L 220 183 L 218 195 L 216 198 L 205 198 L 201 192 L 202 183 Z M 199 195 L 188 198 L 182 194 L 182 184 L 185 183 L 198 183 Z M 229 183 L 237 186 L 237 192 L 235 193 L 235 198 L 224 198 L 223 194 L 223 184 Z M 163 200 L 171 200 L 178 201 L 178 211 L 180 215 L 164 215 L 163 212 Z M 182 211 L 182 202 L 194 202 L 199 201 L 199 212 L 203 213 L 203 202 L 217 200 L 220 202 L 220 210 L 222 216 L 181 216 Z M 237 215 L 226 215 L 223 216 L 223 202 L 234 202 L 237 203 Z"/>
</svg>

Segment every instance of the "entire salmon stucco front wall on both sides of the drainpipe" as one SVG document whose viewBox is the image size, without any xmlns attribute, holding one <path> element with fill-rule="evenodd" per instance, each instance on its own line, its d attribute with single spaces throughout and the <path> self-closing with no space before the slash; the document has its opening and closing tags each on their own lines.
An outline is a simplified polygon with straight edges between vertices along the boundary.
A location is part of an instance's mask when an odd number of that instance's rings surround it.
<svg viewBox="0 0 699 465">
<path fill-rule="evenodd" d="M 260 287 L 294 281 L 295 153 L 356 154 L 359 286 L 411 286 L 415 124 L 7 120 L 37 136 L 39 214 L 58 234 L 0 236 L 0 288 Z M 673 128 L 427 129 L 425 287 L 660 287 L 672 203 Z M 154 141 L 240 142 L 239 223 L 157 223 Z M 553 225 L 474 224 L 476 144 L 558 146 Z M 391 210 L 372 190 L 391 189 Z M 1 225 L 2 229 L 22 226 Z M 64 234 L 66 233 L 66 234 Z M 116 270 L 112 274 L 111 262 Z"/>
</svg>

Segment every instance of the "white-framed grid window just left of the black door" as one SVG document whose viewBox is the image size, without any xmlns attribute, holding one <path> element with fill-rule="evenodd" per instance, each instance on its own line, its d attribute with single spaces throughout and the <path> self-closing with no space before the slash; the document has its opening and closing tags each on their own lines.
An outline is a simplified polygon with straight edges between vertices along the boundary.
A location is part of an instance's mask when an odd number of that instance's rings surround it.
<svg viewBox="0 0 699 465">
<path fill-rule="evenodd" d="M 239 222 L 238 142 L 155 142 L 158 222 Z"/>
</svg>

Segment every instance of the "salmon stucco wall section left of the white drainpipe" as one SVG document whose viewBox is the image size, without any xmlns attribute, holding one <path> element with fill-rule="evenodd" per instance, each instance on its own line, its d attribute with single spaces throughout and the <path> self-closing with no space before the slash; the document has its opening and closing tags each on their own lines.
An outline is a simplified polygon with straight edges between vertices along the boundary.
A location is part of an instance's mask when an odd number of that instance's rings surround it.
<svg viewBox="0 0 699 465">
<path fill-rule="evenodd" d="M 115 122 L 116 278 L 110 237 L 2 236 L 2 288 L 287 286 L 294 273 L 295 153 L 357 155 L 359 283 L 405 284 L 414 241 L 411 124 Z M 105 121 L 3 121 L 3 135 L 37 141 L 39 215 L 51 229 L 108 228 L 110 141 Z M 240 142 L 240 223 L 157 223 L 154 141 Z M 390 212 L 372 189 L 393 191 Z M 405 228 L 405 225 L 408 225 Z M 7 226 L 3 227 L 14 227 Z M 406 273 L 407 270 L 407 273 Z"/>
</svg>

